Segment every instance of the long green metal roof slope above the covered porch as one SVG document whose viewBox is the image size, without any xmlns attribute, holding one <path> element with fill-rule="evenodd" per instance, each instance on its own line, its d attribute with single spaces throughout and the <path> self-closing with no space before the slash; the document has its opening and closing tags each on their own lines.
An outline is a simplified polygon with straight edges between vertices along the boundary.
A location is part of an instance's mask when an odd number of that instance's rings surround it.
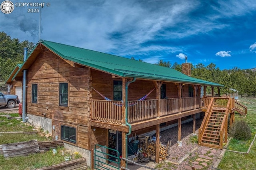
<svg viewBox="0 0 256 170">
<path fill-rule="evenodd" d="M 61 43 L 49 42 L 46 40 L 41 40 L 40 42 L 42 45 L 46 46 L 48 49 L 64 59 L 121 77 L 136 77 L 142 79 L 224 87 L 218 83 L 189 77 L 168 67 L 92 51 L 89 49 L 64 45 Z"/>
</svg>

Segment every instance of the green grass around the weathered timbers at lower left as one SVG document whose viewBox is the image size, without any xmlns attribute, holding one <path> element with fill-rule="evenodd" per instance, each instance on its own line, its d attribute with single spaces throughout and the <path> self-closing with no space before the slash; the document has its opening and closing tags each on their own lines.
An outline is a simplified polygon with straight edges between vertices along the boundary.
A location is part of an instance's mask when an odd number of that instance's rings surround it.
<svg viewBox="0 0 256 170">
<path fill-rule="evenodd" d="M 0 113 L 0 115 L 6 115 L 6 113 Z M 9 114 L 12 117 L 18 117 L 18 114 Z M 0 117 L 0 131 L 34 131 L 34 127 L 28 123 L 23 123 L 22 120 L 7 119 L 6 117 Z M 51 138 L 46 138 L 40 134 L 23 134 L 23 133 L 1 133 L 0 144 L 24 142 L 37 139 L 38 141 L 47 141 Z M 65 150 L 63 147 L 57 148 L 57 154 L 53 154 L 52 150 L 45 152 L 44 154 L 31 154 L 29 156 L 18 156 L 14 158 L 4 158 L 0 155 L 0 170 L 36 170 L 45 166 L 51 166 L 65 162 L 65 156 L 72 156 L 77 159 L 81 157 L 79 152 Z"/>
</svg>

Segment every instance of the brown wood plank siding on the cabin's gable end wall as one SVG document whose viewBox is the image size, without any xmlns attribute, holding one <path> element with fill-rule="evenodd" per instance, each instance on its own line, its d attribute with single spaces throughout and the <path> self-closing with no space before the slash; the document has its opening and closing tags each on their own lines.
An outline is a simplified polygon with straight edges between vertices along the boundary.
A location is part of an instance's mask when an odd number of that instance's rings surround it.
<svg viewBox="0 0 256 170">
<path fill-rule="evenodd" d="M 87 67 L 72 67 L 52 53 L 42 51 L 27 71 L 27 113 L 52 119 L 56 130 L 54 135 L 61 138 L 61 125 L 76 128 L 76 145 L 89 149 Z M 68 83 L 68 107 L 59 106 L 59 83 Z M 31 102 L 32 84 L 38 85 L 38 103 Z M 72 143 L 70 143 L 72 144 Z"/>
</svg>

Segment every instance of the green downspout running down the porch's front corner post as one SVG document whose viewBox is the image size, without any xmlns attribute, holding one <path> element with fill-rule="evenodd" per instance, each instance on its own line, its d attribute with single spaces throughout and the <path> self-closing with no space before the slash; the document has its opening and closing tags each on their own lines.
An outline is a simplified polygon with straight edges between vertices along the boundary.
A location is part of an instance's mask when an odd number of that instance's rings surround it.
<svg viewBox="0 0 256 170">
<path fill-rule="evenodd" d="M 132 126 L 130 125 L 130 123 L 128 123 L 128 84 L 130 83 L 133 83 L 134 81 L 136 80 L 136 78 L 134 77 L 134 79 L 132 81 L 128 81 L 126 82 L 125 84 L 125 124 L 129 127 L 129 133 L 126 133 L 126 136 L 125 136 L 125 143 L 126 143 L 126 159 L 128 157 L 128 147 L 127 147 L 127 144 L 128 144 L 128 135 L 130 135 L 132 133 Z M 126 167 L 127 167 L 127 161 L 126 161 Z"/>
</svg>

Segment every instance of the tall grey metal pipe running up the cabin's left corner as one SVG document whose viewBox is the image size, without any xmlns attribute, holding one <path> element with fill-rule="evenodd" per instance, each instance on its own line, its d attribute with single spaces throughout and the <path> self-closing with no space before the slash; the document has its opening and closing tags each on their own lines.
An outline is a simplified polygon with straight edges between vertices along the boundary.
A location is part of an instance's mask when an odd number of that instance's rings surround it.
<svg viewBox="0 0 256 170">
<path fill-rule="evenodd" d="M 24 59 L 23 63 L 27 59 L 27 54 L 28 54 L 28 48 L 24 47 Z M 22 121 L 25 123 L 26 122 L 26 94 L 27 94 L 27 89 L 26 89 L 26 80 L 27 80 L 27 70 L 23 70 L 23 79 L 22 79 Z"/>
</svg>

